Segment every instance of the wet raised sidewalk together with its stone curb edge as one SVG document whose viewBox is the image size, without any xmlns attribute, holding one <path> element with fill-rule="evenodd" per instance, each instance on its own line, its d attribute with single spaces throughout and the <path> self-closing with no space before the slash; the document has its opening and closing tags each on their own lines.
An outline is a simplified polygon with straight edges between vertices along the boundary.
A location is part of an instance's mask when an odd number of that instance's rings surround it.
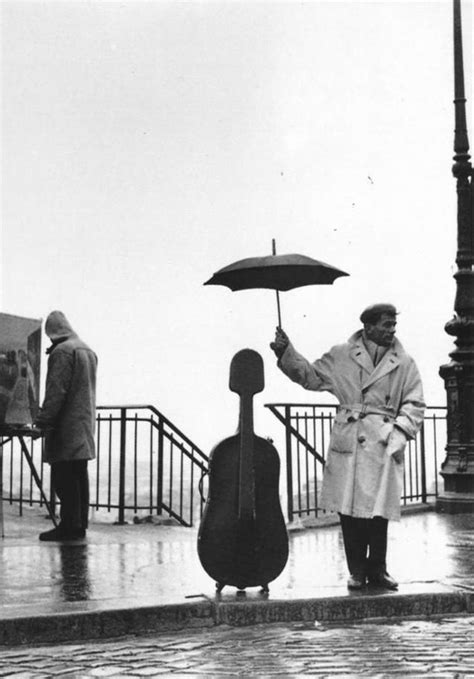
<svg viewBox="0 0 474 679">
<path fill-rule="evenodd" d="M 290 557 L 263 597 L 227 587 L 218 598 L 201 567 L 197 529 L 124 526 L 93 517 L 88 537 L 43 543 L 44 512 L 5 504 L 0 545 L 0 643 L 31 644 L 149 635 L 219 625 L 314 626 L 374 617 L 474 612 L 474 516 L 433 511 L 389 525 L 396 593 L 349 593 L 338 526 L 290 532 Z M 99 520 L 100 519 L 100 520 Z"/>
</svg>

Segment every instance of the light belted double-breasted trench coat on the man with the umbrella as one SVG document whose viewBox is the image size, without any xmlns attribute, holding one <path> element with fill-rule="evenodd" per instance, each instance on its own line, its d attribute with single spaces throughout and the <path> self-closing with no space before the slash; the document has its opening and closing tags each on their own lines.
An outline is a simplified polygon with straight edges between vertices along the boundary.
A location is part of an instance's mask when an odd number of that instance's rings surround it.
<svg viewBox="0 0 474 679">
<path fill-rule="evenodd" d="M 395 339 L 374 368 L 356 332 L 310 363 L 290 343 L 278 362 L 305 389 L 339 400 L 324 468 L 320 506 L 359 518 L 400 519 L 404 463 L 392 457 L 396 426 L 413 439 L 423 422 L 421 378 Z"/>
</svg>

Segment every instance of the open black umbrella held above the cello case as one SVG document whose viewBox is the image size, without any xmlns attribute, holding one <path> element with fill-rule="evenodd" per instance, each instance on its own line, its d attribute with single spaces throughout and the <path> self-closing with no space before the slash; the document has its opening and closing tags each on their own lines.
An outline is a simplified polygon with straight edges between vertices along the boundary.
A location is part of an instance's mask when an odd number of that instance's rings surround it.
<svg viewBox="0 0 474 679">
<path fill-rule="evenodd" d="M 281 326 L 280 290 L 292 290 L 305 285 L 330 285 L 340 276 L 349 274 L 330 264 L 305 255 L 273 255 L 247 257 L 219 269 L 204 285 L 225 285 L 231 290 L 269 288 L 276 290 L 278 325 Z"/>
</svg>

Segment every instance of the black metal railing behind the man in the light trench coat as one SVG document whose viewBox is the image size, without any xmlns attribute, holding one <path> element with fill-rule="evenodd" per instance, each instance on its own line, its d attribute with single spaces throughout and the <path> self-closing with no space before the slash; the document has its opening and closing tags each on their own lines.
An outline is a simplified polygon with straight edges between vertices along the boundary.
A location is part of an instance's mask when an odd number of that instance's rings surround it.
<svg viewBox="0 0 474 679">
<path fill-rule="evenodd" d="M 268 403 L 285 427 L 286 497 L 289 521 L 318 517 L 319 492 L 335 404 Z M 405 452 L 402 504 L 426 503 L 438 494 L 439 453 L 446 445 L 446 408 L 426 409 L 423 426 Z"/>
</svg>

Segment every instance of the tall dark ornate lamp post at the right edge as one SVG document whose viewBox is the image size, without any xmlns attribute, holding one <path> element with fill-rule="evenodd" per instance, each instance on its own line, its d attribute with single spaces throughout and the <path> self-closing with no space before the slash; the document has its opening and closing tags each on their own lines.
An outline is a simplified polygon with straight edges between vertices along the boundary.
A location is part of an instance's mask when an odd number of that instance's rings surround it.
<svg viewBox="0 0 474 679">
<path fill-rule="evenodd" d="M 456 348 L 439 374 L 447 396 L 446 458 L 441 465 L 444 491 L 437 509 L 474 512 L 474 192 L 466 126 L 461 1 L 453 0 L 454 24 L 454 165 L 457 190 L 457 271 L 455 315 L 445 325 Z"/>
</svg>

